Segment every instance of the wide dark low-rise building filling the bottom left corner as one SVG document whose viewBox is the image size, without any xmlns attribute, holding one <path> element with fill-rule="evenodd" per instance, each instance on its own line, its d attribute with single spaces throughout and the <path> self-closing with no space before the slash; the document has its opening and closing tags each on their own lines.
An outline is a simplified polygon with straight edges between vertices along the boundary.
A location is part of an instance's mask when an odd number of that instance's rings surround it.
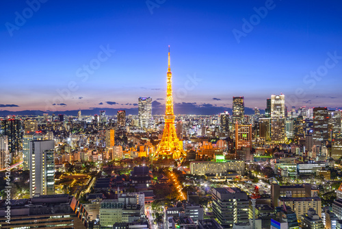
<svg viewBox="0 0 342 229">
<path fill-rule="evenodd" d="M 31 199 L 10 201 L 10 224 L 6 222 L 8 204 L 0 204 L 0 228 L 84 228 L 88 213 L 68 194 L 36 195 Z"/>
</svg>

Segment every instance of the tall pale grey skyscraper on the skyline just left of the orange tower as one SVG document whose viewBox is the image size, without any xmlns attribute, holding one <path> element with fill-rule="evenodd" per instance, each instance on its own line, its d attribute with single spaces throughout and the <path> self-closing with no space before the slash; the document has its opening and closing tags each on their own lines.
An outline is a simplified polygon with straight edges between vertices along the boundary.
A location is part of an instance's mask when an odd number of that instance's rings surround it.
<svg viewBox="0 0 342 229">
<path fill-rule="evenodd" d="M 149 129 L 152 125 L 152 98 L 140 97 L 138 99 L 139 127 Z"/>
</svg>

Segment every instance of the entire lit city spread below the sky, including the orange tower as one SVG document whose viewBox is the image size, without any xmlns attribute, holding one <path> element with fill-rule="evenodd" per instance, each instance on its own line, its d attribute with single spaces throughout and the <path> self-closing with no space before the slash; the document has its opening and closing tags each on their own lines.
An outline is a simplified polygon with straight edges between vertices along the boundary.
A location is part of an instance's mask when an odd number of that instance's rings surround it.
<svg viewBox="0 0 342 229">
<path fill-rule="evenodd" d="M 2 228 L 341 227 L 341 110 L 281 94 L 263 115 L 244 97 L 174 115 L 172 99 L 169 47 L 165 116 L 140 97 L 138 115 L 3 117 Z"/>
</svg>

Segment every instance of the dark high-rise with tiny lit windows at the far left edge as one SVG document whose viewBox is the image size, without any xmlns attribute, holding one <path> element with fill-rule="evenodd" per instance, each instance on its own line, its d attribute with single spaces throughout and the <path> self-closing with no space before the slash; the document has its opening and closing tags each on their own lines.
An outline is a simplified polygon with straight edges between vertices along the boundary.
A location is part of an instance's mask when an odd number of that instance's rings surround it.
<svg viewBox="0 0 342 229">
<path fill-rule="evenodd" d="M 8 151 L 18 152 L 21 147 L 21 121 L 18 119 L 1 120 L 3 134 L 8 136 Z"/>
</svg>

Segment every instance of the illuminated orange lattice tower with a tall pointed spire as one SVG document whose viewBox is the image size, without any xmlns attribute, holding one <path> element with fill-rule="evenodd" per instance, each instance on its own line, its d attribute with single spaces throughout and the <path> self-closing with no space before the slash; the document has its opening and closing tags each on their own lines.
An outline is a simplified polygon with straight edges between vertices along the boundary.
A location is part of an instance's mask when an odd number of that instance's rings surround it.
<svg viewBox="0 0 342 229">
<path fill-rule="evenodd" d="M 168 55 L 168 88 L 166 90 L 166 111 L 165 111 L 165 125 L 163 130 L 163 137 L 158 145 L 158 149 L 155 153 L 155 159 L 157 158 L 173 158 L 182 162 L 186 154 L 183 150 L 183 146 L 180 143 L 176 135 L 176 128 L 174 128 L 174 113 L 173 113 L 173 98 L 172 98 L 172 73 L 170 68 L 170 45 Z"/>
</svg>

